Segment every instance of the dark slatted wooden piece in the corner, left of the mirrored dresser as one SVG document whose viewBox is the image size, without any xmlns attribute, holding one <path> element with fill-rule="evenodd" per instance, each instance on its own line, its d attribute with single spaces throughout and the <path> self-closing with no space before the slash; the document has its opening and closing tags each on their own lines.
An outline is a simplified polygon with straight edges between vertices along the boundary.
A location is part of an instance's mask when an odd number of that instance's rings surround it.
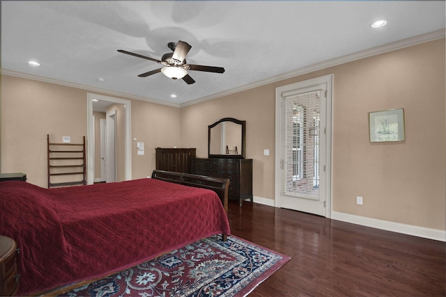
<svg viewBox="0 0 446 297">
<path fill-rule="evenodd" d="M 195 158 L 195 148 L 156 149 L 156 169 L 190 173 L 190 160 Z"/>
</svg>

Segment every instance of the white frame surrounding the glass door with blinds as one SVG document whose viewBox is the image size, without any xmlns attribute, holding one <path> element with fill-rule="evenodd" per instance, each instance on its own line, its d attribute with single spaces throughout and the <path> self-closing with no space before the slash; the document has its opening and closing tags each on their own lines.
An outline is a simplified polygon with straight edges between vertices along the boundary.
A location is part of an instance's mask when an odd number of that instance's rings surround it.
<svg viewBox="0 0 446 297">
<path fill-rule="evenodd" d="M 326 102 L 326 129 L 325 129 L 325 218 L 332 216 L 332 87 L 333 74 L 328 74 L 323 77 L 316 77 L 314 79 L 307 79 L 306 81 L 299 81 L 291 83 L 286 86 L 276 88 L 276 122 L 275 122 L 275 207 L 281 207 L 281 191 L 282 191 L 282 143 L 281 143 L 281 122 L 282 122 L 282 108 L 281 99 L 282 93 L 286 90 L 298 90 L 303 88 L 311 88 L 326 83 L 327 85 L 327 102 Z"/>
</svg>

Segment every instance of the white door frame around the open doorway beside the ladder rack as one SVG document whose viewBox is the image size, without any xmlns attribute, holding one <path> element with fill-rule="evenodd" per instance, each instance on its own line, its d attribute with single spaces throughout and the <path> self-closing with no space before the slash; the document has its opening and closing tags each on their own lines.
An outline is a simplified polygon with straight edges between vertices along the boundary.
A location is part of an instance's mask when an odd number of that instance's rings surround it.
<svg viewBox="0 0 446 297">
<path fill-rule="evenodd" d="M 94 122 L 93 122 L 93 99 L 123 104 L 125 110 L 125 129 L 124 129 L 124 166 L 125 180 L 132 179 L 132 104 L 130 100 L 105 95 L 87 93 L 86 98 L 86 136 L 87 136 L 87 184 L 93 184 L 95 177 L 95 151 L 94 151 Z"/>
</svg>

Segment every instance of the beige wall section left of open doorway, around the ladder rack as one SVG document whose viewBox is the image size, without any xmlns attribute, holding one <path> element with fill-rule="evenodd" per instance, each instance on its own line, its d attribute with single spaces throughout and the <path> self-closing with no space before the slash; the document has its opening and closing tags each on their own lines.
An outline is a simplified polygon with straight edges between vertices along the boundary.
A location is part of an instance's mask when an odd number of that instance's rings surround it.
<svg viewBox="0 0 446 297">
<path fill-rule="evenodd" d="M 47 186 L 47 134 L 61 143 L 86 135 L 86 93 L 52 83 L 1 77 L 1 172 L 24 172 Z M 76 125 L 73 125 L 75 123 Z"/>
</svg>

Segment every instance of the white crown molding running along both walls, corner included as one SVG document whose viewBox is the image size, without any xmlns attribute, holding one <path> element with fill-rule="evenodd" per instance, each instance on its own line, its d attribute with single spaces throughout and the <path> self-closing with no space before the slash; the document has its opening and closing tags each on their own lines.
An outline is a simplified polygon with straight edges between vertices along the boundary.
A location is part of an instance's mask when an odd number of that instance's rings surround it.
<svg viewBox="0 0 446 297">
<path fill-rule="evenodd" d="M 386 45 L 381 45 L 379 47 L 372 47 L 371 49 L 366 49 L 364 51 L 357 51 L 356 53 L 353 54 L 348 54 L 346 56 L 341 56 L 338 58 L 333 58 L 330 59 L 328 61 L 323 61 L 321 63 L 316 63 L 313 65 L 310 65 L 308 67 L 303 67 L 300 68 L 298 70 L 294 70 L 292 72 L 287 72 L 284 74 L 280 74 L 277 75 L 276 77 L 271 77 L 269 79 L 264 79 L 261 81 L 256 81 L 255 83 L 249 83 L 245 86 L 240 86 L 238 88 L 233 88 L 231 90 L 226 90 L 224 92 L 220 92 L 220 93 L 215 93 L 213 95 L 209 95 L 206 97 L 201 97 L 201 98 L 197 98 L 194 99 L 190 102 L 185 102 L 183 104 L 174 104 L 171 102 L 162 102 L 162 101 L 158 101 L 149 97 L 141 97 L 141 96 L 134 96 L 134 95 L 130 95 L 127 93 L 120 93 L 120 92 L 116 92 L 113 90 L 107 90 L 107 89 L 102 89 L 102 88 L 96 88 L 93 86 L 86 86 L 86 85 L 82 85 L 80 83 L 71 83 L 69 81 L 61 81 L 59 79 L 50 79 L 48 77 L 40 77 L 38 75 L 34 75 L 34 74 L 28 74 L 28 73 L 24 73 L 24 72 L 17 72 L 14 70 L 7 70 L 7 69 L 1 69 L 1 74 L 5 74 L 5 75 L 10 75 L 12 77 L 21 77 L 24 79 L 33 79 L 35 81 L 43 81 L 46 83 L 55 83 L 61 86 L 68 86 L 68 87 L 72 87 L 72 88 L 80 88 L 83 90 L 88 90 L 91 92 L 98 92 L 98 93 L 103 93 L 103 94 L 107 94 L 107 95 L 113 95 L 113 96 L 117 96 L 117 97 L 124 97 L 124 98 L 129 98 L 129 99 L 135 99 L 135 100 L 141 100 L 141 101 L 146 101 L 146 102 L 151 102 L 154 104 L 162 104 L 162 105 L 167 105 L 167 106 L 173 106 L 173 107 L 177 107 L 177 108 L 182 108 L 185 106 L 191 106 L 194 104 L 199 104 L 201 102 L 206 102 L 212 99 L 217 99 L 220 97 L 224 97 L 227 95 L 231 95 L 233 93 L 239 93 L 242 92 L 244 90 L 249 90 L 252 88 L 257 88 L 259 86 L 264 86 L 267 85 L 269 83 L 275 83 L 277 81 L 283 81 L 284 79 L 291 79 L 292 77 L 298 77 L 300 75 L 303 74 L 308 74 L 311 72 L 315 72 L 318 70 L 323 70 L 325 68 L 328 67 L 333 67 L 333 66 L 337 66 L 337 65 L 341 65 L 344 63 L 348 63 L 348 62 L 352 62 L 352 61 L 356 61 L 356 60 L 360 60 L 362 58 L 368 58 L 370 56 L 376 56 L 378 54 L 384 54 L 388 51 L 394 51 L 397 49 L 403 49 L 405 47 L 411 47 L 413 45 L 419 45 L 422 44 L 424 42 L 430 42 L 433 40 L 438 40 L 441 38 L 445 38 L 445 33 L 446 30 L 445 29 L 440 29 L 440 30 L 436 30 L 436 31 L 432 31 L 429 33 L 424 33 L 421 35 L 417 35 L 414 36 L 412 38 L 406 38 L 403 40 L 398 40 L 396 42 L 391 42 L 388 43 Z"/>
</svg>

